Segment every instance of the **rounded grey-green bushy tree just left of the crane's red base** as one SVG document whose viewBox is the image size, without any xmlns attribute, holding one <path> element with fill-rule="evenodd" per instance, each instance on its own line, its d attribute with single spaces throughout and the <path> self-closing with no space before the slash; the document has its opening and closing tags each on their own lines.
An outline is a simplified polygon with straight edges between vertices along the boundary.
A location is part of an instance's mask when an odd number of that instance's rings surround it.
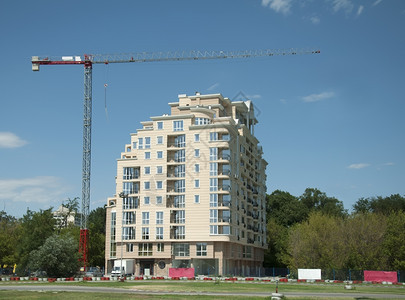
<svg viewBox="0 0 405 300">
<path fill-rule="evenodd" d="M 42 270 L 50 277 L 70 277 L 79 269 L 78 244 L 69 235 L 54 234 L 29 256 L 31 270 Z"/>
</svg>

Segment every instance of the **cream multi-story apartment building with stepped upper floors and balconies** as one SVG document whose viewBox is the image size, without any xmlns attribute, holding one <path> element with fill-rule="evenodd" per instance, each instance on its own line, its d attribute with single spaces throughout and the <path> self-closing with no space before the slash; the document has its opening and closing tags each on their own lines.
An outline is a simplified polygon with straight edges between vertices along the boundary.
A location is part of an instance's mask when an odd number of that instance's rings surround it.
<svg viewBox="0 0 405 300">
<path fill-rule="evenodd" d="M 107 204 L 106 270 L 259 275 L 266 243 L 266 161 L 251 101 L 179 95 L 141 122 L 117 161 Z"/>
</svg>

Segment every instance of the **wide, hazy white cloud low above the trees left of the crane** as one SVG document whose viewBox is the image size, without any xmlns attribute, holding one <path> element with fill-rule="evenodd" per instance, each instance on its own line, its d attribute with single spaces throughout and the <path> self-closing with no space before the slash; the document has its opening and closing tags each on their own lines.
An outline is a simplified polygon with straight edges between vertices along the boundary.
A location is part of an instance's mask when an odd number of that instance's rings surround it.
<svg viewBox="0 0 405 300">
<path fill-rule="evenodd" d="M 7 202 L 58 204 L 67 191 L 60 178 L 37 176 L 22 179 L 0 179 L 0 200 Z"/>
</svg>

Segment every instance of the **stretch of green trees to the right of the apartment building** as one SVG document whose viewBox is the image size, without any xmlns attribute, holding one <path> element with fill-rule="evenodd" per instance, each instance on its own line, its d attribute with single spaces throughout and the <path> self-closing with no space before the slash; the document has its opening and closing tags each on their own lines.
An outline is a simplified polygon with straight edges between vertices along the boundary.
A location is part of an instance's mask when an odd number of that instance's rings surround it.
<svg viewBox="0 0 405 300">
<path fill-rule="evenodd" d="M 405 198 L 360 198 L 353 211 L 318 189 L 266 196 L 265 266 L 405 270 Z"/>
</svg>

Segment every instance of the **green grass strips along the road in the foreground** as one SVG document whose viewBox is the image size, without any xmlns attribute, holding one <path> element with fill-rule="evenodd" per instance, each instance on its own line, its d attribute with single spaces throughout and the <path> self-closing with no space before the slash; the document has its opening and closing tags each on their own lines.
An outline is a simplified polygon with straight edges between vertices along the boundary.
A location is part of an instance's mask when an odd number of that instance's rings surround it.
<svg viewBox="0 0 405 300">
<path fill-rule="evenodd" d="M 113 294 L 98 292 L 38 292 L 38 291 L 4 291 L 0 290 L 0 299 L 270 299 L 271 293 L 275 292 L 274 283 L 241 283 L 241 282 L 194 282 L 194 281 L 126 281 L 126 282 L 1 282 L 2 285 L 59 285 L 59 286 L 84 286 L 84 287 L 110 287 L 135 289 L 142 294 Z M 299 296 L 299 293 L 368 293 L 393 295 L 405 295 L 405 286 L 385 285 L 353 285 L 354 290 L 345 290 L 344 284 L 293 284 L 279 283 L 278 292 L 297 293 L 294 297 L 286 299 L 313 299 L 313 297 Z M 150 293 L 174 292 L 177 295 L 156 295 Z M 182 295 L 182 293 L 240 293 L 240 296 L 218 296 L 218 295 Z M 244 295 L 249 294 L 249 295 Z M 256 296 L 254 294 L 257 294 Z M 355 297 L 359 299 L 360 297 Z M 339 299 L 355 299 L 344 297 Z M 317 297 L 316 299 L 335 299 L 328 297 Z M 360 298 L 361 299 L 361 298 Z M 373 298 L 363 298 L 373 299 Z M 386 298 L 387 299 L 387 298 Z"/>
</svg>

